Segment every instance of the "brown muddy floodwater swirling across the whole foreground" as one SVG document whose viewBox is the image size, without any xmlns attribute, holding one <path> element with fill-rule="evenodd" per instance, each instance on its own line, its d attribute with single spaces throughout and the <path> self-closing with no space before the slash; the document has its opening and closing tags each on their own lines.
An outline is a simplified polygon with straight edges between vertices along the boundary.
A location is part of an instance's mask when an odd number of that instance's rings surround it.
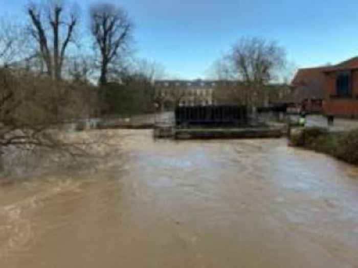
<svg viewBox="0 0 358 268">
<path fill-rule="evenodd" d="M 95 171 L 0 184 L 0 267 L 358 267 L 358 168 L 285 139 L 117 138 Z"/>
</svg>

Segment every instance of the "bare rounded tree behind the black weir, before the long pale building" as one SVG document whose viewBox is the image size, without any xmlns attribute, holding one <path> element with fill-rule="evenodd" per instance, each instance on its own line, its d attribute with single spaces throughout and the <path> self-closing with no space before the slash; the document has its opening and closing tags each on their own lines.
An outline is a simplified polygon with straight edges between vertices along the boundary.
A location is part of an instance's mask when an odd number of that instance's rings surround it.
<svg viewBox="0 0 358 268">
<path fill-rule="evenodd" d="M 285 66 L 285 50 L 276 42 L 243 37 L 215 64 L 216 75 L 223 81 L 218 83 L 215 98 L 240 105 L 264 105 L 269 95 L 267 85 L 278 79 Z"/>
</svg>

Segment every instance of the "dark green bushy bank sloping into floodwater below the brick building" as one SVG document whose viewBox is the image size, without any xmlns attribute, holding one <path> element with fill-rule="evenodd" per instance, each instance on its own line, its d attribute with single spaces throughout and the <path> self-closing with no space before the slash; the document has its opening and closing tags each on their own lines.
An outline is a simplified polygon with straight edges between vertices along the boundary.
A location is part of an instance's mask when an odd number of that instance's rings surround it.
<svg viewBox="0 0 358 268">
<path fill-rule="evenodd" d="M 358 165 L 358 129 L 343 133 L 329 133 L 326 129 L 316 127 L 294 129 L 290 140 L 293 146 L 325 153 Z"/>
</svg>

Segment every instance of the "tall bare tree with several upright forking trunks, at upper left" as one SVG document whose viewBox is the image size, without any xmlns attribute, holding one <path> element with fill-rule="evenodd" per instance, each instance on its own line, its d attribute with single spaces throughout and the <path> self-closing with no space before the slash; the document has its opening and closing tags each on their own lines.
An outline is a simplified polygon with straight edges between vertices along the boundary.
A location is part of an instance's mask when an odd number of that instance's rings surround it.
<svg viewBox="0 0 358 268">
<path fill-rule="evenodd" d="M 46 9 L 45 12 L 43 9 Z M 74 41 L 78 18 L 74 13 L 70 13 L 66 18 L 63 14 L 64 4 L 55 0 L 48 5 L 31 4 L 27 12 L 32 23 L 30 33 L 38 44 L 38 51 L 46 64 L 47 74 L 53 79 L 60 80 L 66 49 L 70 42 Z"/>
</svg>

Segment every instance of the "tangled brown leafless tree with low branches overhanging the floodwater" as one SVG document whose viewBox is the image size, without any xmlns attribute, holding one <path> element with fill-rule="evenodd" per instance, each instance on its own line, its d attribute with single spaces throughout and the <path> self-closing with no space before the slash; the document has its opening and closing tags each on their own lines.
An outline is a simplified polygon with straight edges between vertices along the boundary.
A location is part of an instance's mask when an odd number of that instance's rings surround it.
<svg viewBox="0 0 358 268">
<path fill-rule="evenodd" d="M 3 154 L 46 150 L 62 156 L 88 156 L 88 147 L 103 142 L 69 141 L 60 131 L 66 123 L 93 113 L 95 87 L 54 81 L 23 68 L 7 67 L 0 69 L 0 88 L 0 169 Z M 19 154 L 19 160 L 22 157 Z"/>
</svg>

